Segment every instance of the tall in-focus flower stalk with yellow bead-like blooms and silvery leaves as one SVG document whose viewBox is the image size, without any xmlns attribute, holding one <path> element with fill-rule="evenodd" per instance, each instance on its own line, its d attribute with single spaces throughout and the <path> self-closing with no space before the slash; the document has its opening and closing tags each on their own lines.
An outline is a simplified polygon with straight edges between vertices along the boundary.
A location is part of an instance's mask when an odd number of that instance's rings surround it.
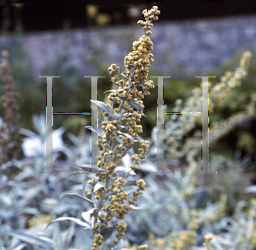
<svg viewBox="0 0 256 250">
<path fill-rule="evenodd" d="M 158 14 L 160 11 L 156 6 L 150 10 L 143 10 L 145 20 L 139 20 L 137 24 L 143 27 L 144 35 L 132 44 L 133 51 L 125 56 L 125 71 L 121 73 L 125 79 L 119 80 L 117 77 L 119 66 L 112 64 L 108 68 L 113 82 L 113 89 L 108 90 L 108 99 L 112 104 L 106 105 L 101 101 L 91 100 L 103 110 L 107 120 L 102 122 L 102 137 L 97 140 L 100 152 L 97 156 L 97 168 L 101 169 L 101 172 L 96 173 L 96 179 L 88 180 L 91 189 L 87 190 L 87 197 L 96 201 L 94 212 L 90 214 L 93 218 L 91 250 L 99 249 L 106 241 L 102 232 L 108 231 L 112 234 L 116 229 L 116 239 L 113 239 L 113 243 L 119 243 L 125 236 L 127 224 L 123 221 L 116 223 L 119 219 L 125 219 L 125 214 L 133 209 L 133 204 L 145 190 L 146 183 L 143 179 L 125 182 L 125 178 L 134 174 L 133 170 L 138 168 L 141 159 L 146 158 L 149 147 L 147 140 L 140 141 L 138 153 L 131 156 L 133 164 L 129 169 L 118 166 L 122 164 L 121 158 L 130 151 L 134 142 L 138 141 L 138 134 L 143 132 L 142 126 L 137 125 L 137 122 L 144 116 L 143 98 L 150 94 L 150 88 L 154 88 L 154 82 L 148 81 L 150 62 L 154 61 L 154 55 L 150 53 L 153 43 L 149 35 L 152 34 L 152 21 L 158 20 Z M 93 131 L 93 128 L 90 129 Z M 118 171 L 124 171 L 125 174 L 119 176 Z M 128 194 L 123 188 L 129 185 L 137 186 L 137 190 Z M 95 196 L 93 192 L 96 193 Z M 130 195 L 133 195 L 132 199 L 129 199 Z"/>
</svg>

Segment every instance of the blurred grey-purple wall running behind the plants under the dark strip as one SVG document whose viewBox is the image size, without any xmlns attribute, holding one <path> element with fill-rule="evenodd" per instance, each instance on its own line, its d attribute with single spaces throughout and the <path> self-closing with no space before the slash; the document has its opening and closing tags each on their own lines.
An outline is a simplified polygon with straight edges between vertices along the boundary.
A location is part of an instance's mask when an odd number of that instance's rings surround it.
<svg viewBox="0 0 256 250">
<path fill-rule="evenodd" d="M 35 77 L 55 74 L 58 60 L 66 57 L 65 67 L 75 67 L 83 76 L 95 76 L 99 68 L 108 74 L 108 65 L 123 69 L 131 43 L 143 34 L 141 27 L 90 27 L 84 30 L 27 33 L 21 37 L 0 37 L 0 49 L 22 43 L 26 60 Z M 163 76 L 174 76 L 175 65 L 189 74 L 206 74 L 235 54 L 256 46 L 256 15 L 212 20 L 155 22 L 151 39 L 155 62 L 152 69 Z M 49 74 L 46 67 L 52 69 Z"/>
</svg>

